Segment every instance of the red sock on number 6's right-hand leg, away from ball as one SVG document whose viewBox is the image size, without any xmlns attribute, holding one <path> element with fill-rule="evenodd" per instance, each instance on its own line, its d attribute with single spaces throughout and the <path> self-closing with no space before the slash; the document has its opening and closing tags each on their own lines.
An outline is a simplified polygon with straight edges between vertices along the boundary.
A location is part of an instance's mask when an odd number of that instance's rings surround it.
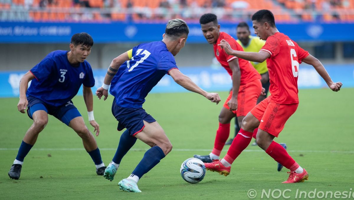
<svg viewBox="0 0 354 200">
<path fill-rule="evenodd" d="M 286 152 L 284 147 L 273 141 L 268 149 L 265 151 L 270 157 L 272 157 L 276 162 L 282 164 L 291 171 L 295 171 L 299 165 L 292 159 L 291 156 Z"/>
</svg>

